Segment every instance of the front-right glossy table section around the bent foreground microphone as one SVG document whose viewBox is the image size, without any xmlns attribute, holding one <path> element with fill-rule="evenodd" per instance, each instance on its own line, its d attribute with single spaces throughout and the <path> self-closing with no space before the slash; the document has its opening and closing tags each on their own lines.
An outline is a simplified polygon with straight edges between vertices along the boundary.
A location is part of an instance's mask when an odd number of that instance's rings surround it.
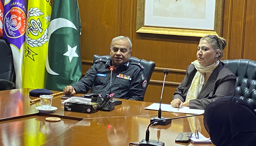
<svg viewBox="0 0 256 146">
<path fill-rule="evenodd" d="M 78 122 L 71 129 L 46 142 L 46 145 L 104 145 L 104 146 L 125 146 L 129 142 L 140 142 L 145 139 L 147 126 L 151 116 L 128 116 L 114 118 L 84 119 Z M 192 120 L 191 120 L 192 119 Z M 190 121 L 194 121 L 191 123 Z M 209 137 L 203 124 L 203 116 L 181 118 L 172 120 L 166 126 L 150 127 L 150 139 L 164 142 L 166 146 L 193 145 L 213 146 L 212 144 L 175 143 L 180 132 L 193 132 L 195 127 L 205 136 Z M 70 139 L 64 135 L 69 134 Z M 71 140 L 72 139 L 72 140 Z"/>
</svg>

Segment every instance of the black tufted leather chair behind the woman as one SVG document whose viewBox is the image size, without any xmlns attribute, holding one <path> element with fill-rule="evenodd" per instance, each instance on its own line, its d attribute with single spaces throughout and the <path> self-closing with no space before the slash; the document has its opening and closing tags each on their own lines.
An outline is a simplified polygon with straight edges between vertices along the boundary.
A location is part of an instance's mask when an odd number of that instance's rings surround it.
<svg viewBox="0 0 256 146">
<path fill-rule="evenodd" d="M 247 101 L 256 109 L 256 62 L 249 59 L 224 60 L 222 62 L 237 77 L 235 97 Z"/>
</svg>

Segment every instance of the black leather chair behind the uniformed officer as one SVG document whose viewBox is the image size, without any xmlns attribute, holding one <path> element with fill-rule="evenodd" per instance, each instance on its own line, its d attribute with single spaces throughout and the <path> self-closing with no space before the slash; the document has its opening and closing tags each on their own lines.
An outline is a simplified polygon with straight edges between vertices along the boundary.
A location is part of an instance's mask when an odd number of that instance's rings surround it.
<svg viewBox="0 0 256 146">
<path fill-rule="evenodd" d="M 102 56 L 99 56 L 99 55 L 93 55 L 93 64 L 95 63 L 95 61 L 97 59 L 110 59 L 110 56 L 109 55 L 102 55 Z M 147 86 L 148 86 L 148 83 L 150 81 L 150 78 L 151 78 L 151 75 L 155 69 L 155 62 L 153 61 L 146 61 L 144 59 L 138 59 L 136 57 L 130 57 L 129 58 L 130 61 L 132 62 L 137 62 L 137 63 L 140 63 L 143 67 L 144 67 L 144 73 L 146 74 L 147 76 Z M 146 87 L 147 89 L 147 87 Z M 145 95 L 145 93 L 143 94 L 143 96 Z"/>
</svg>

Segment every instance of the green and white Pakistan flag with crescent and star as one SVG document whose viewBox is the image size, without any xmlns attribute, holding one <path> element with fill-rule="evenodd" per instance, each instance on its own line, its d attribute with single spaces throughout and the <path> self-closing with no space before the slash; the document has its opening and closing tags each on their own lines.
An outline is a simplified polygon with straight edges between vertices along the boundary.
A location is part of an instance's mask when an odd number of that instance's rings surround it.
<svg viewBox="0 0 256 146">
<path fill-rule="evenodd" d="M 77 0 L 54 0 L 45 62 L 45 88 L 62 91 L 82 76 L 81 21 Z"/>
</svg>

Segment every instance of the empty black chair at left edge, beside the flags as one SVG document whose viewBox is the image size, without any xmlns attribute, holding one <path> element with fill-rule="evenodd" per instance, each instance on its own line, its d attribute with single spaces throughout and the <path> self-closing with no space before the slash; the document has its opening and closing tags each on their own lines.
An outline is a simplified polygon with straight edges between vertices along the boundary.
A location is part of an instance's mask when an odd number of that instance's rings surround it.
<svg viewBox="0 0 256 146">
<path fill-rule="evenodd" d="M 14 89 L 12 82 L 14 77 L 14 64 L 10 43 L 5 39 L 0 39 L 0 91 Z"/>
</svg>

